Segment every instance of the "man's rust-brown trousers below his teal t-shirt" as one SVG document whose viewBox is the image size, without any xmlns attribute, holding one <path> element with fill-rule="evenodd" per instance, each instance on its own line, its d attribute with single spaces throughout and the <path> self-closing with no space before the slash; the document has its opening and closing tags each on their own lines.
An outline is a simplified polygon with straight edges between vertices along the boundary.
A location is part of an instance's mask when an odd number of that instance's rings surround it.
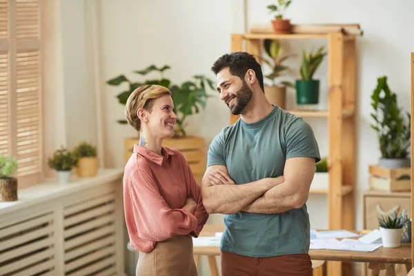
<svg viewBox="0 0 414 276">
<path fill-rule="evenodd" d="M 221 250 L 222 276 L 312 276 L 311 257 L 293 254 L 256 258 Z"/>
</svg>

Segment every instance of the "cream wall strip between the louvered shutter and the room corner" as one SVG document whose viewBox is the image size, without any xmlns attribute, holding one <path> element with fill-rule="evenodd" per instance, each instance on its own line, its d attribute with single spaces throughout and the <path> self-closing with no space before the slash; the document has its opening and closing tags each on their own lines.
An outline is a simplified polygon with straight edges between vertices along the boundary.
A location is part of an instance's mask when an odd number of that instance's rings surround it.
<svg viewBox="0 0 414 276">
<path fill-rule="evenodd" d="M 43 2 L 44 164 L 61 145 L 97 143 L 85 0 Z M 48 173 L 52 173 L 48 170 Z"/>
</svg>

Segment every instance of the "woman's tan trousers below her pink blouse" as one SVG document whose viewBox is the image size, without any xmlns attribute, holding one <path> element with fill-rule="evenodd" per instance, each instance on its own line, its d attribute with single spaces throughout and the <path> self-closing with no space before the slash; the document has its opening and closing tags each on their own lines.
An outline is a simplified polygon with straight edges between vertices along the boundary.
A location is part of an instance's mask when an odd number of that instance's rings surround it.
<svg viewBox="0 0 414 276">
<path fill-rule="evenodd" d="M 139 252 L 137 276 L 197 276 L 193 239 L 179 235 L 157 242 L 149 253 Z"/>
</svg>

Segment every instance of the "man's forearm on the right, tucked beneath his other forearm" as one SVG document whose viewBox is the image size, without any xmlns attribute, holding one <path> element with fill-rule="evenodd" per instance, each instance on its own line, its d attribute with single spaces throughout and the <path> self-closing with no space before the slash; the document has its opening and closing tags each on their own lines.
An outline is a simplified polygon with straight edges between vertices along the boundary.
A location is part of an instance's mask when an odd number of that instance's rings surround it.
<svg viewBox="0 0 414 276">
<path fill-rule="evenodd" d="M 268 190 L 262 197 L 252 201 L 242 211 L 257 214 L 284 213 L 293 208 L 299 208 L 297 191 L 295 187 L 283 179 L 281 183 Z"/>
</svg>

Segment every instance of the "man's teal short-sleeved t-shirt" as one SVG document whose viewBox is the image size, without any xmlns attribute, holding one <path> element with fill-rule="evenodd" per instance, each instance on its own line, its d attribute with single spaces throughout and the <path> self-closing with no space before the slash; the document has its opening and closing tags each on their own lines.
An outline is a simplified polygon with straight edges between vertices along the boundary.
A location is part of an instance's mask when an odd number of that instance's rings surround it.
<svg viewBox="0 0 414 276">
<path fill-rule="evenodd" d="M 207 166 L 227 166 L 236 184 L 283 175 L 286 159 L 315 157 L 319 148 L 311 126 L 275 106 L 264 119 L 239 119 L 221 130 L 208 149 Z M 220 249 L 249 257 L 308 253 L 310 226 L 306 204 L 278 214 L 224 215 Z"/>
</svg>

